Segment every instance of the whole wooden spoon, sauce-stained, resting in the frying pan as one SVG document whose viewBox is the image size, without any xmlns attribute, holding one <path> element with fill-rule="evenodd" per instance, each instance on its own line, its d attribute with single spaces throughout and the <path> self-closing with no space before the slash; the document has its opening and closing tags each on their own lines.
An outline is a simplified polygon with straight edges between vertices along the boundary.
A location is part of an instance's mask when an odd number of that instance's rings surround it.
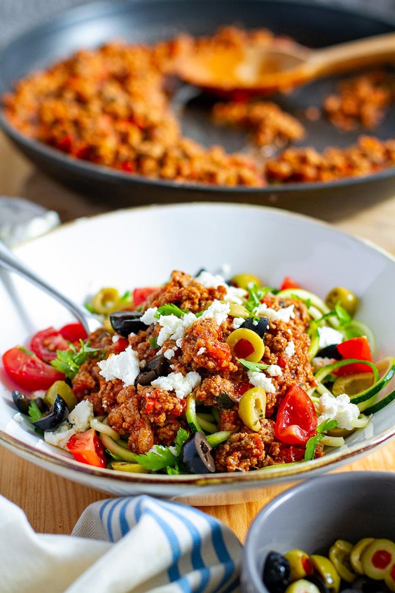
<svg viewBox="0 0 395 593">
<path fill-rule="evenodd" d="M 309 49 L 290 41 L 271 46 L 209 46 L 185 56 L 178 75 L 207 90 L 268 93 L 362 66 L 395 60 L 395 33 Z"/>
</svg>

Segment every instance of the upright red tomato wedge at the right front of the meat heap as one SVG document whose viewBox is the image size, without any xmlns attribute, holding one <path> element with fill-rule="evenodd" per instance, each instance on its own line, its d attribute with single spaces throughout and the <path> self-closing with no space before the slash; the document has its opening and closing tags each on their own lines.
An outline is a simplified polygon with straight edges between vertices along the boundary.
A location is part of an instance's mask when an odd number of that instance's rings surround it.
<svg viewBox="0 0 395 593">
<path fill-rule="evenodd" d="M 291 385 L 281 401 L 275 423 L 275 436 L 288 445 L 305 445 L 317 433 L 314 404 L 299 385 Z"/>
</svg>

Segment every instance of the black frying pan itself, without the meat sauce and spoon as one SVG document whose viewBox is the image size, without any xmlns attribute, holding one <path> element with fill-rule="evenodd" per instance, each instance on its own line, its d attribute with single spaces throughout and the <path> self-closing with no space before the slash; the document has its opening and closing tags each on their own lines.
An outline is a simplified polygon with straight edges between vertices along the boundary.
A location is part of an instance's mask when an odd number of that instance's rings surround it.
<svg viewBox="0 0 395 593">
<path fill-rule="evenodd" d="M 81 47 L 97 47 L 111 39 L 155 42 L 180 31 L 210 34 L 224 24 L 246 28 L 268 27 L 287 34 L 310 47 L 322 47 L 395 28 L 395 15 L 375 17 L 364 11 L 326 6 L 317 2 L 289 0 L 102 0 L 69 9 L 11 42 L 0 55 L 0 94 L 9 91 L 17 79 L 35 69 L 45 68 Z M 338 79 L 322 79 L 298 88 L 275 100 L 291 113 L 300 114 L 335 90 Z M 184 135 L 204 145 L 222 144 L 228 151 L 246 148 L 245 136 L 234 130 L 213 127 L 207 105 L 201 97 L 188 93 L 181 100 Z M 181 98 L 180 98 L 181 97 Z M 178 104 L 178 109 L 180 108 Z M 303 120 L 303 117 L 301 117 Z M 307 138 L 301 145 L 322 150 L 326 146 L 354 144 L 361 130 L 340 132 L 325 120 L 308 122 Z M 123 204 L 136 205 L 187 200 L 236 200 L 292 206 L 297 200 L 355 199 L 364 196 L 383 199 L 395 192 L 395 167 L 363 178 L 330 183 L 292 183 L 263 188 L 229 188 L 169 181 L 149 180 L 78 161 L 39 142 L 31 141 L 8 125 L 0 114 L 0 126 L 15 145 L 47 174 L 72 189 Z M 362 130 L 363 131 L 363 130 Z M 395 138 L 395 107 L 374 130 L 380 139 Z M 371 199 L 371 198 L 370 198 Z"/>
</svg>

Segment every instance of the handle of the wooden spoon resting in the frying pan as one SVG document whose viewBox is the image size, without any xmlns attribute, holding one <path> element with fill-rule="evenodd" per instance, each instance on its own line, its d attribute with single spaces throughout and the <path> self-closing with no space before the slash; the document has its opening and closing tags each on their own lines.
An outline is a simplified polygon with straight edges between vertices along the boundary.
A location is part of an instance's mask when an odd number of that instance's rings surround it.
<svg viewBox="0 0 395 593">
<path fill-rule="evenodd" d="M 323 75 L 383 63 L 386 60 L 395 60 L 395 33 L 324 47 L 313 52 L 305 64 L 311 73 Z"/>
</svg>

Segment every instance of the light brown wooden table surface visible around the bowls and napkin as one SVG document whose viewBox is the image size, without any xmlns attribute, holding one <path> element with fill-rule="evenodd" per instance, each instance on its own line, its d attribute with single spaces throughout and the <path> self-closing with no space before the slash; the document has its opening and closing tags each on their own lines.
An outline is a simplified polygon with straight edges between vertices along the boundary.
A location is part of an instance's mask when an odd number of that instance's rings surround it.
<svg viewBox="0 0 395 593">
<path fill-rule="evenodd" d="M 21 157 L 0 135 L 0 195 L 22 196 L 59 212 L 62 221 L 114 208 L 105 207 L 86 197 L 71 193 L 44 177 Z M 395 189 L 394 197 L 381 200 L 362 198 L 349 202 L 316 202 L 306 211 L 303 203 L 294 209 L 331 222 L 338 228 L 373 241 L 395 255 Z M 313 211 L 312 211 L 313 210 Z M 55 476 L 24 461 L 0 447 L 0 494 L 19 505 L 34 530 L 43 533 L 70 533 L 81 512 L 89 503 L 108 495 L 70 480 Z M 395 444 L 391 442 L 341 470 L 395 470 Z M 229 525 L 241 541 L 257 512 L 273 496 L 290 485 L 271 487 L 253 502 L 204 506 L 203 510 Z"/>
</svg>

